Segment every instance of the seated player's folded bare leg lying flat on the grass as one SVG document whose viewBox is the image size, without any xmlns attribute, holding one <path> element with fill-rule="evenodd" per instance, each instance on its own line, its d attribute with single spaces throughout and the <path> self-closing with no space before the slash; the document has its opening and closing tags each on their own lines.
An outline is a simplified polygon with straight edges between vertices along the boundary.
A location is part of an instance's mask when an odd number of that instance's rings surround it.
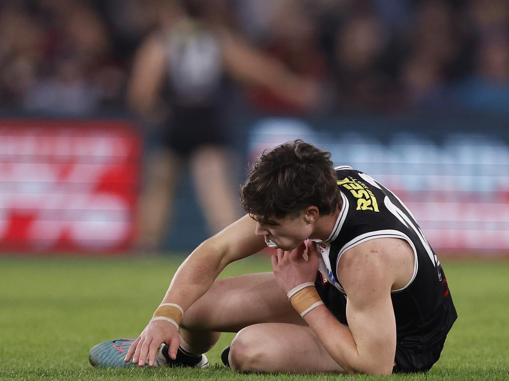
<svg viewBox="0 0 509 381">
<path fill-rule="evenodd" d="M 309 327 L 267 323 L 241 330 L 232 341 L 229 362 L 237 371 L 341 372 Z"/>
</svg>

